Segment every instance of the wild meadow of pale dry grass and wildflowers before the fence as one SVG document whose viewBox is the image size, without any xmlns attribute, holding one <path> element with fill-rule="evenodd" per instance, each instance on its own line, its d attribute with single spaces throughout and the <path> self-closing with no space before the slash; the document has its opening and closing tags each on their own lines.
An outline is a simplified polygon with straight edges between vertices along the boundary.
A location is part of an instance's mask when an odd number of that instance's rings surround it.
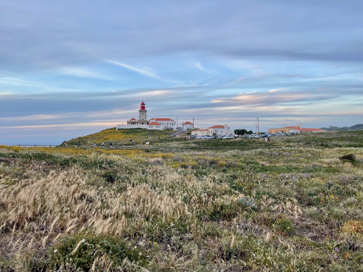
<svg viewBox="0 0 363 272">
<path fill-rule="evenodd" d="M 361 147 L 0 156 L 3 270 L 363 269 Z"/>
</svg>

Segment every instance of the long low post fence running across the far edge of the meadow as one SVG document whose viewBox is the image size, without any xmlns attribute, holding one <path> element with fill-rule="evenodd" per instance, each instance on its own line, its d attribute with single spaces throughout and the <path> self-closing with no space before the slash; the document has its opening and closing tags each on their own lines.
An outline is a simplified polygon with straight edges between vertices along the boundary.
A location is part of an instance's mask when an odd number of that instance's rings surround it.
<svg viewBox="0 0 363 272">
<path fill-rule="evenodd" d="M 100 148 L 100 149 L 139 149 L 139 150 L 150 150 L 150 151 L 174 151 L 174 152 L 182 152 L 182 151 L 229 151 L 229 150 L 246 150 L 246 149 L 271 149 L 271 148 L 312 148 L 310 144 L 297 143 L 291 146 L 276 146 L 276 145 L 264 145 L 264 146 L 243 146 L 243 147 L 177 147 L 170 145 L 72 145 L 72 146 L 64 146 L 64 145 L 25 145 L 18 144 L 14 145 L 15 147 L 53 147 L 53 148 L 83 148 L 83 149 L 92 149 L 92 148 Z"/>
</svg>

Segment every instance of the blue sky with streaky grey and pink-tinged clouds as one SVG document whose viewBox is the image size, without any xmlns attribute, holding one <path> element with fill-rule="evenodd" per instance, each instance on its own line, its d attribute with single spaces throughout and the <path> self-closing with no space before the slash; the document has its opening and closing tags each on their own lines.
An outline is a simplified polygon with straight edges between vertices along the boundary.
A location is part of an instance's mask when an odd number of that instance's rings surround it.
<svg viewBox="0 0 363 272">
<path fill-rule="evenodd" d="M 0 2 L 0 144 L 137 117 L 363 123 L 362 1 Z"/>
</svg>

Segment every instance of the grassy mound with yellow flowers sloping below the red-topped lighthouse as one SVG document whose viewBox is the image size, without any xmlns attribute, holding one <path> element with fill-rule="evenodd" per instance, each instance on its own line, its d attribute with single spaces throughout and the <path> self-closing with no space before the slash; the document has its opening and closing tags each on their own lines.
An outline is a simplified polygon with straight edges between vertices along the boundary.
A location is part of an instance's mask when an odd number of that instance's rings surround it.
<svg viewBox="0 0 363 272">
<path fill-rule="evenodd" d="M 174 133 L 173 131 L 171 133 Z M 160 137 L 161 140 L 167 139 L 169 136 L 168 131 L 163 130 L 147 130 L 144 128 L 128 128 L 128 129 L 119 129 L 116 131 L 116 128 L 107 128 L 103 131 L 90 134 L 83 137 L 77 137 L 72 140 L 67 141 L 68 145 L 75 145 L 78 141 L 82 145 L 92 145 L 96 142 L 97 145 L 100 145 L 102 142 L 107 145 L 110 141 L 112 143 L 117 142 L 117 144 L 130 144 L 130 139 L 134 144 L 145 142 L 150 139 L 156 140 Z M 64 145 L 65 141 L 61 144 Z"/>
</svg>

